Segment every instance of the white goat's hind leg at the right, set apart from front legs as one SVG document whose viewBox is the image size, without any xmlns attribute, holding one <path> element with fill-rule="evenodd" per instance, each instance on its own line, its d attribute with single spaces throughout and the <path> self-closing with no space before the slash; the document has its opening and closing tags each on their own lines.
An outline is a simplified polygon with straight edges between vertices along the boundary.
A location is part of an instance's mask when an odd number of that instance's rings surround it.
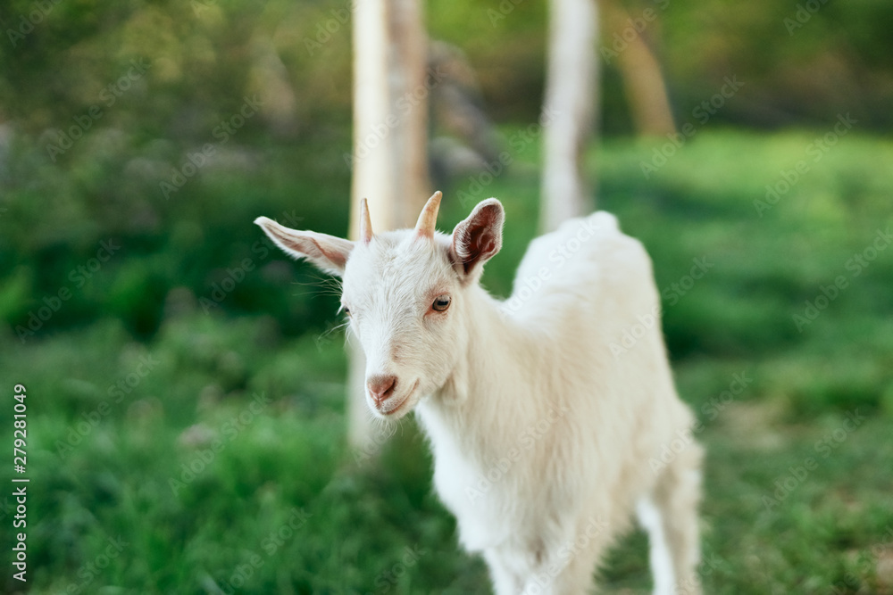
<svg viewBox="0 0 893 595">
<path fill-rule="evenodd" d="M 638 505 L 650 541 L 655 595 L 698 595 L 701 557 L 697 505 L 701 500 L 703 450 L 692 442 L 657 479 L 651 497 Z"/>
</svg>

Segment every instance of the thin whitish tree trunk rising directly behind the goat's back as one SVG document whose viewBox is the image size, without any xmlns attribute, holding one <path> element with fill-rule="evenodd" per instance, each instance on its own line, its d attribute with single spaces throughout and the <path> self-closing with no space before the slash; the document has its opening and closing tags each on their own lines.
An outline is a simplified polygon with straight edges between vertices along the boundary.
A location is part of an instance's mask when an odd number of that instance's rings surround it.
<svg viewBox="0 0 893 595">
<path fill-rule="evenodd" d="M 552 231 L 588 212 L 582 153 L 597 113 L 595 0 L 550 0 L 539 225 Z"/>
</svg>

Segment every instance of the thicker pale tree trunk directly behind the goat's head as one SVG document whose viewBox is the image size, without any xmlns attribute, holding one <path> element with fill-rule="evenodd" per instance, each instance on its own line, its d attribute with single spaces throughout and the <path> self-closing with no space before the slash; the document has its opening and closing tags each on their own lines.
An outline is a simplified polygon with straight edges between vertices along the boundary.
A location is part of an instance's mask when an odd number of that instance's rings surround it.
<svg viewBox="0 0 893 595">
<path fill-rule="evenodd" d="M 427 37 L 418 0 L 363 0 L 354 13 L 354 152 L 350 236 L 359 236 L 360 199 L 373 232 L 411 227 L 430 195 Z M 363 350 L 351 343 L 347 436 L 374 455 L 385 438 L 372 431 L 365 403 Z"/>
</svg>

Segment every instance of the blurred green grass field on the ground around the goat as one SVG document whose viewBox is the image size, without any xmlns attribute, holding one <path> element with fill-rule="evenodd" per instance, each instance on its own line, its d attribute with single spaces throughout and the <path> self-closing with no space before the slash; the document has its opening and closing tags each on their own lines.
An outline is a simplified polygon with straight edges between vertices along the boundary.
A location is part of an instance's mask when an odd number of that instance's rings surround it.
<svg viewBox="0 0 893 595">
<path fill-rule="evenodd" d="M 599 207 L 655 260 L 680 394 L 703 422 L 706 592 L 893 593 L 893 143 L 823 134 L 589 155 Z M 504 201 L 484 278 L 501 295 L 535 234 L 537 156 L 513 157 L 488 185 L 444 188 L 439 225 L 470 211 L 455 197 Z M 330 299 L 281 286 L 305 292 Z M 146 340 L 107 317 L 0 342 L 4 390 L 28 388 L 30 592 L 488 592 L 414 422 L 377 463 L 346 448 L 343 335 L 283 334 L 268 310 L 206 313 L 199 297 L 163 296 Z M 332 308 L 320 327 L 339 322 Z M 0 504 L 8 557 L 10 491 Z M 618 543 L 605 592 L 648 592 L 646 549 L 641 533 Z"/>
</svg>

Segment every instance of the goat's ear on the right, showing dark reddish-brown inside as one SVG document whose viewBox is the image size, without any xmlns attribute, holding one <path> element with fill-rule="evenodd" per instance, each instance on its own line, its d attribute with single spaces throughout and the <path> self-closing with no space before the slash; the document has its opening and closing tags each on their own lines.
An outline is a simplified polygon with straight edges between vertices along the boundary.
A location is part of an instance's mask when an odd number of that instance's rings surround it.
<svg viewBox="0 0 893 595">
<path fill-rule="evenodd" d="M 455 226 L 450 259 L 465 279 L 471 281 L 480 277 L 484 263 L 502 248 L 504 221 L 502 203 L 488 198 L 479 202 L 472 214 Z"/>
</svg>

